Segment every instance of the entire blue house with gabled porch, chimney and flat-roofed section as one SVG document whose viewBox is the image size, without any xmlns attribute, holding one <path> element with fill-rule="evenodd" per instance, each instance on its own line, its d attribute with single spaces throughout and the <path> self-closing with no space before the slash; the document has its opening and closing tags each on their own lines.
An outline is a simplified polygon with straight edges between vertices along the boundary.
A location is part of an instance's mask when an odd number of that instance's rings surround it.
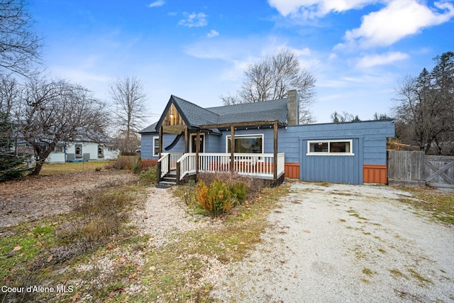
<svg viewBox="0 0 454 303">
<path fill-rule="evenodd" d="M 140 131 L 142 158 L 157 159 L 160 182 L 236 171 L 279 183 L 387 182 L 391 120 L 299 125 L 298 96 L 201 108 L 171 96 L 159 121 Z"/>
</svg>

